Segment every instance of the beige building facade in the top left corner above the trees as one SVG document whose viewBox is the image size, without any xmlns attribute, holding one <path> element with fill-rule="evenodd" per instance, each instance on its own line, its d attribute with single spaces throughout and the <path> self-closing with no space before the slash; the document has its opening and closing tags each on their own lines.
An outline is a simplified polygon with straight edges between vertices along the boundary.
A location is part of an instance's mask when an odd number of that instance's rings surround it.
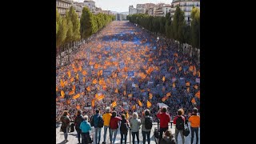
<svg viewBox="0 0 256 144">
<path fill-rule="evenodd" d="M 58 13 L 61 16 L 66 15 L 66 11 L 70 9 L 70 6 L 72 6 L 73 0 L 56 0 L 56 7 L 58 10 Z"/>
</svg>

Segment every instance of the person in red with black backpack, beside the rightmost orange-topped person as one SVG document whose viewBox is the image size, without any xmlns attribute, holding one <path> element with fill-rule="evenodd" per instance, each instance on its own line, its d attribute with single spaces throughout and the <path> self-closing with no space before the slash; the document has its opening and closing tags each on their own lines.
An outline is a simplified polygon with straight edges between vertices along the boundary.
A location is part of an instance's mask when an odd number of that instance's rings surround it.
<svg viewBox="0 0 256 144">
<path fill-rule="evenodd" d="M 182 137 L 182 144 L 185 143 L 185 138 L 183 135 L 183 130 L 184 130 L 184 126 L 185 126 L 185 118 L 182 116 L 182 110 L 179 109 L 177 111 L 177 116 L 174 118 L 174 125 L 175 126 L 175 139 L 176 142 L 178 143 L 178 133 L 181 133 L 181 137 Z"/>
</svg>

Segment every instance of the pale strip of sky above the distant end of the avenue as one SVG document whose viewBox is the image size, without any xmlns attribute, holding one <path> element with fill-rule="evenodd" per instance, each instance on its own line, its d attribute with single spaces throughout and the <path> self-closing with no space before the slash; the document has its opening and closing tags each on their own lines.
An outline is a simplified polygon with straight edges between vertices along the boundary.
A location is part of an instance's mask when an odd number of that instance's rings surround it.
<svg viewBox="0 0 256 144">
<path fill-rule="evenodd" d="M 74 0 L 74 2 L 83 2 L 84 0 Z M 97 7 L 101 7 L 102 10 L 111 10 L 118 12 L 129 11 L 129 6 L 142 4 L 142 3 L 166 3 L 170 4 L 172 0 L 94 0 Z"/>
</svg>

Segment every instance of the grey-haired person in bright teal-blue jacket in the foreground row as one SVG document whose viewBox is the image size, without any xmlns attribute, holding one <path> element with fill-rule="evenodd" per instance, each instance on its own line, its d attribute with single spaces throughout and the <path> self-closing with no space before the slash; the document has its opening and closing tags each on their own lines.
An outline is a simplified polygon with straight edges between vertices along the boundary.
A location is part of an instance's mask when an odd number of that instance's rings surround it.
<svg viewBox="0 0 256 144">
<path fill-rule="evenodd" d="M 81 122 L 79 127 L 82 131 L 82 144 L 89 144 L 91 127 L 90 127 L 90 123 L 88 122 L 88 116 L 85 115 L 83 118 L 84 118 L 84 121 Z"/>
</svg>

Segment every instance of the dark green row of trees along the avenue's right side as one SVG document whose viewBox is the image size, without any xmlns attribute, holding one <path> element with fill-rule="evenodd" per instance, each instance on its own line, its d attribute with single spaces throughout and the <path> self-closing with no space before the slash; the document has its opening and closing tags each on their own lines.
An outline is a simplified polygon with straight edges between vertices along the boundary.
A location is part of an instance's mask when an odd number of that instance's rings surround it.
<svg viewBox="0 0 256 144">
<path fill-rule="evenodd" d="M 164 34 L 166 38 L 177 40 L 180 44 L 187 43 L 200 49 L 200 10 L 198 8 L 193 7 L 190 17 L 192 21 L 188 23 L 185 20 L 184 11 L 179 6 L 175 10 L 172 21 L 170 13 L 167 13 L 166 17 L 132 14 L 128 15 L 127 19 L 155 34 Z"/>
</svg>

